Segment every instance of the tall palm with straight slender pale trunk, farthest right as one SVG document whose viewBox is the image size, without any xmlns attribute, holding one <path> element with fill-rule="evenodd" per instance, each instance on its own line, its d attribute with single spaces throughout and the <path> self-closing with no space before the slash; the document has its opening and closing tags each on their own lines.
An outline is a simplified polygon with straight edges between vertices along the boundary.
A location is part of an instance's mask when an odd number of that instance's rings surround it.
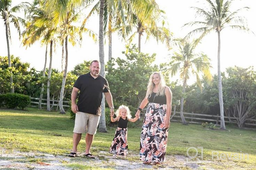
<svg viewBox="0 0 256 170">
<path fill-rule="evenodd" d="M 233 28 L 238 30 L 249 31 L 246 27 L 246 19 L 238 15 L 244 9 L 243 7 L 230 11 L 230 6 L 233 0 L 205 0 L 208 8 L 192 7 L 197 10 L 197 16 L 203 17 L 203 21 L 189 22 L 185 25 L 197 25 L 199 28 L 189 32 L 187 36 L 200 33 L 200 39 L 209 34 L 212 31 L 216 31 L 218 34 L 218 89 L 219 89 L 219 103 L 220 103 L 220 129 L 225 130 L 224 110 L 223 110 L 223 97 L 222 97 L 222 82 L 221 82 L 221 71 L 220 71 L 220 32 L 224 28 Z M 184 25 L 184 26 L 185 26 Z"/>
</svg>

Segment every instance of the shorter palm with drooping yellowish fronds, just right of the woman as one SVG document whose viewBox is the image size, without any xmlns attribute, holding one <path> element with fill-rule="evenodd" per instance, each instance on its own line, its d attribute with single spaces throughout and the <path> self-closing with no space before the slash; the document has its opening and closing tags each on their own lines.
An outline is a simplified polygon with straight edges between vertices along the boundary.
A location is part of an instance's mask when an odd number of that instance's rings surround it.
<svg viewBox="0 0 256 170">
<path fill-rule="evenodd" d="M 183 125 L 187 125 L 187 122 L 183 115 L 184 96 L 186 93 L 187 81 L 190 78 L 190 74 L 196 76 L 197 84 L 201 87 L 200 74 L 204 74 L 206 80 L 212 80 L 212 75 L 209 72 L 210 63 L 209 58 L 203 54 L 195 54 L 194 50 L 198 44 L 198 40 L 189 42 L 188 39 L 176 39 L 175 42 L 179 47 L 179 53 L 175 52 L 175 55 L 171 58 L 171 67 L 167 70 L 171 75 L 175 75 L 179 72 L 180 78 L 183 81 L 182 98 L 180 99 L 180 117 L 182 118 Z"/>
</svg>

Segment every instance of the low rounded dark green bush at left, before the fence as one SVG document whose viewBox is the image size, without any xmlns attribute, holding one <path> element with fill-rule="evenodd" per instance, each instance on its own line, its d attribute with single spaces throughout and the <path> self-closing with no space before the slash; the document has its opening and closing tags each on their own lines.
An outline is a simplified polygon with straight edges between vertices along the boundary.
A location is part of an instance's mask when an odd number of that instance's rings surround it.
<svg viewBox="0 0 256 170">
<path fill-rule="evenodd" d="M 24 109 L 27 108 L 30 104 L 30 98 L 27 95 L 17 94 L 17 93 L 7 93 L 1 95 L 2 97 L 2 106 L 7 108 L 15 109 Z"/>
</svg>

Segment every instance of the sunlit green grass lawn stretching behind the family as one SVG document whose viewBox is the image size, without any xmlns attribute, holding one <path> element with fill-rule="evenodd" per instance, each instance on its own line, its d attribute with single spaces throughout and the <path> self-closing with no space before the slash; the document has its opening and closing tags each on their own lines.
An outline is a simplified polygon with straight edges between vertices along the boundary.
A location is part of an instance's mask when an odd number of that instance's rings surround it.
<svg viewBox="0 0 256 170">
<path fill-rule="evenodd" d="M 65 155 L 72 148 L 74 120 L 69 114 L 58 114 L 29 108 L 22 110 L 0 110 L 0 147 L 7 150 L 40 151 L 54 155 Z M 129 123 L 132 124 L 132 123 Z M 141 123 L 142 124 L 142 123 Z M 108 151 L 116 127 L 109 127 L 107 133 L 94 137 L 92 153 Z M 128 127 L 130 153 L 138 153 L 141 127 Z M 227 126 L 226 131 L 209 130 L 200 125 L 189 126 L 172 123 L 169 128 L 168 155 L 186 155 L 189 147 L 204 147 L 204 159 L 211 159 L 211 151 L 219 153 L 248 153 L 249 160 L 240 161 L 256 166 L 256 131 L 240 130 Z M 85 148 L 84 135 L 78 146 L 82 153 Z M 240 152 L 241 151 L 241 152 Z M 193 156 L 195 151 L 190 150 Z M 199 152 L 200 155 L 200 152 Z"/>
</svg>

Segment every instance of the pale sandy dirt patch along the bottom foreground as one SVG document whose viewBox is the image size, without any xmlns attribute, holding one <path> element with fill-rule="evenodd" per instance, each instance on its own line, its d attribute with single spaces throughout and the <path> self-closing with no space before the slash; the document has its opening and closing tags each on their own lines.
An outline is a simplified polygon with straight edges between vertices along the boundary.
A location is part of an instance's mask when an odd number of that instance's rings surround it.
<svg viewBox="0 0 256 170">
<path fill-rule="evenodd" d="M 214 162 L 202 161 L 201 163 L 187 162 L 183 155 L 168 155 L 166 162 L 161 165 L 145 165 L 138 155 L 129 154 L 126 158 L 113 159 L 106 151 L 100 151 L 95 159 L 85 158 L 83 154 L 71 158 L 65 155 L 51 155 L 40 152 L 20 152 L 16 150 L 0 149 L 0 170 L 76 170 L 76 169 L 117 169 L 117 170 L 215 170 Z M 88 166 L 83 168 L 80 166 Z M 217 168 L 218 169 L 218 168 Z"/>
</svg>

